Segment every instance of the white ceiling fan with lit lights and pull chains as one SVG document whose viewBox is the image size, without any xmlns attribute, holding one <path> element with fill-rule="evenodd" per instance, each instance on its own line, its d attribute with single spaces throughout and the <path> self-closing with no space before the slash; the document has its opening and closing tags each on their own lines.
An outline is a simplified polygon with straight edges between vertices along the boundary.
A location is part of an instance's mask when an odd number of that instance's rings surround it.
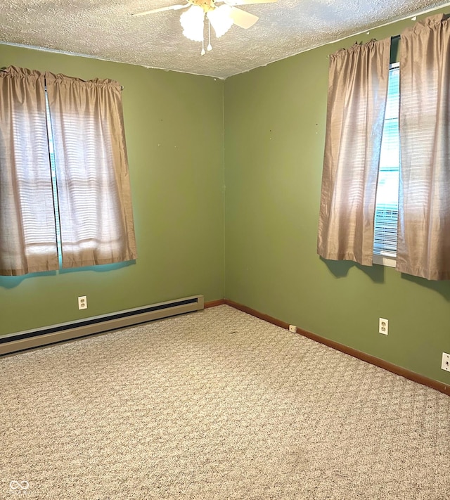
<svg viewBox="0 0 450 500">
<path fill-rule="evenodd" d="M 225 34 L 233 24 L 247 30 L 259 19 L 257 15 L 243 11 L 241 8 L 236 8 L 236 5 L 269 4 L 275 1 L 277 0 L 187 0 L 186 4 L 154 8 L 151 11 L 139 12 L 131 15 L 137 17 L 139 15 L 148 15 L 163 11 L 179 11 L 180 9 L 187 8 L 188 10 L 180 16 L 183 34 L 190 40 L 202 42 L 201 54 L 204 56 L 205 18 L 208 22 L 207 50 L 210 51 L 212 50 L 211 26 L 216 33 L 216 37 L 219 38 Z"/>
</svg>

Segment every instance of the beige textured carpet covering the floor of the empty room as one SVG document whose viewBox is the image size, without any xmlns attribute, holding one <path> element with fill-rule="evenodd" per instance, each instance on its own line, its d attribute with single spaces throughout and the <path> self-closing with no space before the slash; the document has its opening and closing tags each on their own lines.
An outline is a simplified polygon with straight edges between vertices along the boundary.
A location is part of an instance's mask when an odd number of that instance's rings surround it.
<svg viewBox="0 0 450 500">
<path fill-rule="evenodd" d="M 448 396 L 228 306 L 1 358 L 0 395 L 2 499 L 450 499 Z"/>
</svg>

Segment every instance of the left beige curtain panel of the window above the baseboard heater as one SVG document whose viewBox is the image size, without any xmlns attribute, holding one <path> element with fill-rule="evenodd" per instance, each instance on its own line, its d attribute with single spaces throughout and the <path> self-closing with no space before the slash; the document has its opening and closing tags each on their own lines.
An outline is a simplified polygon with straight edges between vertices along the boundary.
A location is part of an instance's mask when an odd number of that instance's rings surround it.
<svg viewBox="0 0 450 500">
<path fill-rule="evenodd" d="M 0 274 L 58 269 L 44 77 L 0 71 Z"/>
</svg>

